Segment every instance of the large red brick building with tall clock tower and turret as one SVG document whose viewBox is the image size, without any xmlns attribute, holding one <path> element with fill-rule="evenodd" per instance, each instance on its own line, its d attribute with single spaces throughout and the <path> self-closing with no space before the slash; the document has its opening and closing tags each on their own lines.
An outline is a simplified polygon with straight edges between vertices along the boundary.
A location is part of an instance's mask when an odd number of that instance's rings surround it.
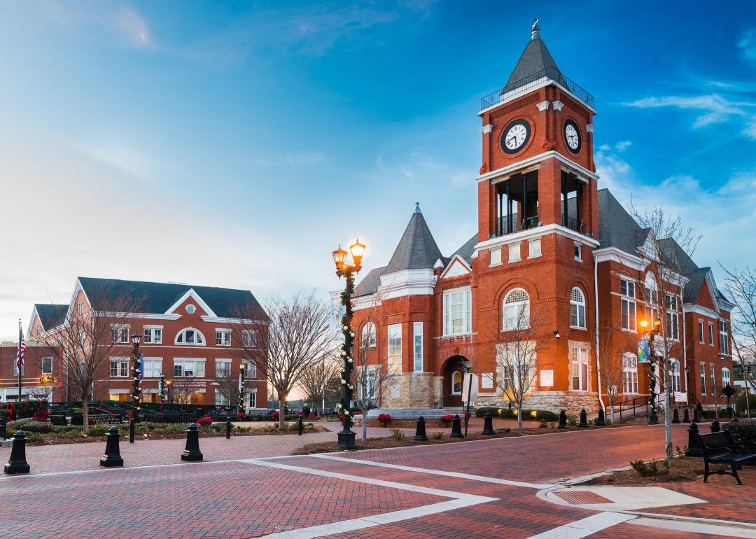
<svg viewBox="0 0 756 539">
<path fill-rule="evenodd" d="M 658 300 L 639 256 L 649 230 L 599 189 L 595 113 L 593 96 L 562 74 L 534 27 L 507 85 L 482 99 L 478 232 L 444 256 L 418 205 L 388 264 L 356 287 L 358 346 L 369 339 L 371 361 L 398 371 L 383 407 L 459 406 L 470 364 L 476 404 L 506 404 L 496 357 L 516 311 L 544 313 L 528 407 L 606 404 L 598 381 L 605 341 L 608 349 L 632 343 L 620 360 L 619 400 L 648 395 L 648 366 L 637 361 L 647 313 L 666 324 L 669 383 L 680 401 L 714 404 L 733 369 L 733 305 L 711 268 L 674 240 L 661 244 L 677 262 L 678 286 Z"/>
</svg>

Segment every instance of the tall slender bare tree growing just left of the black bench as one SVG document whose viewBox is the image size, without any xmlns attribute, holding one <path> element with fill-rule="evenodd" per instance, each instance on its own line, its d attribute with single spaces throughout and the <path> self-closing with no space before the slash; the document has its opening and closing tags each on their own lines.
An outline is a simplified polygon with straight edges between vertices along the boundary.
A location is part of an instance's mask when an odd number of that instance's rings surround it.
<svg viewBox="0 0 756 539">
<path fill-rule="evenodd" d="M 671 351 L 675 343 L 681 340 L 682 291 L 687 282 L 685 275 L 691 269 L 690 257 L 696 251 L 701 236 L 696 236 L 692 228 L 683 225 L 679 216 L 672 217 L 661 206 L 645 211 L 631 206 L 631 213 L 645 234 L 638 256 L 643 260 L 646 274 L 652 274 L 655 280 L 655 290 L 648 291 L 651 297 L 646 299 L 646 304 L 653 306 L 652 312 L 661 311 L 658 314 L 658 320 L 662 322 L 658 325 L 661 345 L 652 345 L 651 361 L 661 371 L 665 402 L 665 452 L 668 464 L 672 466 Z M 655 407 L 655 402 L 652 407 Z"/>
</svg>

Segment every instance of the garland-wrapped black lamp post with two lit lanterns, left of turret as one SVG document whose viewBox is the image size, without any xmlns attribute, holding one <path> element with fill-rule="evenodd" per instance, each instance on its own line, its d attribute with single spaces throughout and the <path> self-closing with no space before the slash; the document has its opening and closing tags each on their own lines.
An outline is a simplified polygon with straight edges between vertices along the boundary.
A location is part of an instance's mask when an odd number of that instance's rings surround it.
<svg viewBox="0 0 756 539">
<path fill-rule="evenodd" d="M 341 331 L 344 334 L 344 344 L 341 349 L 341 357 L 344 360 L 344 370 L 341 373 L 341 385 L 343 387 L 343 397 L 341 401 L 342 414 L 344 414 L 344 428 L 339 432 L 339 449 L 356 449 L 355 432 L 352 431 L 352 365 L 355 363 L 352 358 L 352 342 L 355 339 L 355 333 L 352 331 L 352 293 L 355 292 L 355 274 L 362 269 L 362 253 L 365 246 L 360 243 L 359 238 L 355 243 L 349 246 L 352 252 L 352 265 L 346 264 L 347 253 L 339 245 L 339 249 L 333 251 L 333 262 L 336 263 L 336 275 L 339 278 L 344 277 L 346 285 L 341 293 L 341 305 L 344 314 L 341 318 Z M 362 418 L 367 420 L 366 417 Z"/>
</svg>

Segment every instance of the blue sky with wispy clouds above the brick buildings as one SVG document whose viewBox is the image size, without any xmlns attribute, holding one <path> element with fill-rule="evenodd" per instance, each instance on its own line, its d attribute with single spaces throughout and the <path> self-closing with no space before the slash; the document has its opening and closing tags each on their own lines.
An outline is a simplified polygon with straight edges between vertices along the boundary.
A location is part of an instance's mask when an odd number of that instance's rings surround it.
<svg viewBox="0 0 756 539">
<path fill-rule="evenodd" d="M 454 252 L 534 17 L 596 98 L 600 187 L 753 264 L 754 2 L 3 0 L 0 339 L 79 275 L 327 299 L 330 252 L 385 265 L 416 201 Z"/>
</svg>

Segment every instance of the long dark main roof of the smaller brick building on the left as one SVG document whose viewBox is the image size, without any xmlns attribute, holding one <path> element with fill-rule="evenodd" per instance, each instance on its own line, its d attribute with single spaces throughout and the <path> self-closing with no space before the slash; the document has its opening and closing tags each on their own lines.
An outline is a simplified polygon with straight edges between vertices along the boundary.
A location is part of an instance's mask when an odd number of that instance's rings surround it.
<svg viewBox="0 0 756 539">
<path fill-rule="evenodd" d="M 256 319 L 268 319 L 265 310 L 249 290 L 95 277 L 79 277 L 79 283 L 95 311 L 107 308 L 109 299 L 125 297 L 139 303 L 137 308 L 140 313 L 165 314 L 184 294 L 194 290 L 220 318 L 239 318 L 240 313 L 254 313 Z M 98 302 L 101 305 L 97 305 Z"/>
</svg>

